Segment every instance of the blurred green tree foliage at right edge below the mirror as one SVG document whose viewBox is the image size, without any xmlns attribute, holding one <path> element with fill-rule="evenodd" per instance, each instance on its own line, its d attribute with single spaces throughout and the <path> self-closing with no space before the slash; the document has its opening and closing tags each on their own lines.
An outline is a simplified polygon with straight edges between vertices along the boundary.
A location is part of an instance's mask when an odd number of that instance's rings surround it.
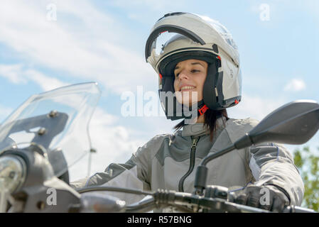
<svg viewBox="0 0 319 227">
<path fill-rule="evenodd" d="M 305 184 L 303 206 L 319 211 L 319 155 L 312 153 L 308 146 L 295 150 L 293 155 Z"/>
</svg>

